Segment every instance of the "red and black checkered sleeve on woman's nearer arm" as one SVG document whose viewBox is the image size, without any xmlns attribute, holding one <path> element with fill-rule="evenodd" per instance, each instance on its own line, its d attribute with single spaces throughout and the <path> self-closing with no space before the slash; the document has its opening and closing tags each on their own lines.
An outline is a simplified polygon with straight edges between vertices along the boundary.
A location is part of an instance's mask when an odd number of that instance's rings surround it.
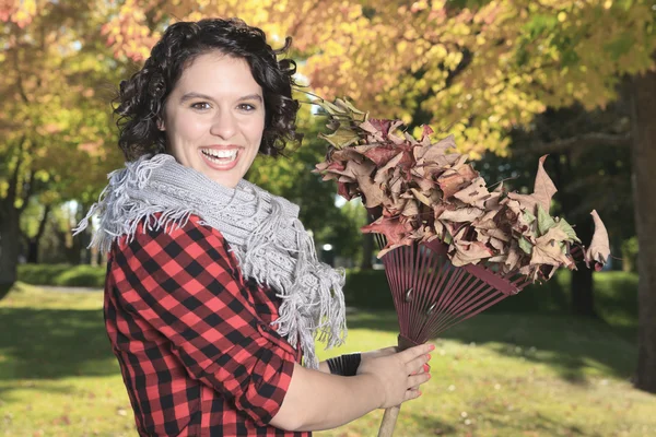
<svg viewBox="0 0 656 437">
<path fill-rule="evenodd" d="M 269 423 L 296 353 L 258 317 L 227 243 L 197 216 L 171 234 L 142 229 L 115 245 L 118 302 L 171 341 L 190 377 Z"/>
</svg>

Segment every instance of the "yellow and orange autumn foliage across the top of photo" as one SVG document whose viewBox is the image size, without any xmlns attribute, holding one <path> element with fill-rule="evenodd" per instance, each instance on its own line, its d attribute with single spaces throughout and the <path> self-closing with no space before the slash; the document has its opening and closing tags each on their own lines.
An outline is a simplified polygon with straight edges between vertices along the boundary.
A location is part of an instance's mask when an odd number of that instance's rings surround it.
<svg viewBox="0 0 656 437">
<path fill-rule="evenodd" d="M 120 161 L 107 84 L 143 62 L 178 20 L 239 16 L 261 27 L 274 48 L 291 35 L 303 60 L 298 73 L 313 92 L 348 95 L 372 117 L 430 122 L 454 133 L 472 157 L 505 153 L 507 130 L 548 106 L 606 105 L 614 98 L 613 78 L 653 68 L 656 50 L 653 0 L 631 8 L 611 0 L 493 0 L 469 9 L 447 0 L 92 0 L 70 20 L 55 13 L 60 3 L 14 0 L 0 9 L 0 21 L 32 35 L 21 40 L 30 48 L 17 54 L 21 68 L 0 78 L 0 114 L 19 126 L 0 125 L 0 133 L 7 142 L 28 134 L 34 163 L 56 166 L 65 179 L 75 174 L 66 168 L 72 156 L 89 165 Z M 30 45 L 42 31 L 47 47 L 37 50 Z M 3 38 L 0 61 L 9 64 L 20 36 Z M 75 49 L 80 39 L 87 51 Z M 420 114 L 430 119 L 414 119 Z M 43 145 L 50 141 L 57 146 Z M 93 179 L 78 177 L 79 186 Z"/>
</svg>

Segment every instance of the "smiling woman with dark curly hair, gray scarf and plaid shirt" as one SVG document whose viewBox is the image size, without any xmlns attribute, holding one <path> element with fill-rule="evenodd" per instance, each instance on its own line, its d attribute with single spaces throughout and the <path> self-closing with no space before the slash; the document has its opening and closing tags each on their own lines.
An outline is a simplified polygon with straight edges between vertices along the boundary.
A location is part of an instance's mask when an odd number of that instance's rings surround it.
<svg viewBox="0 0 656 437">
<path fill-rule="evenodd" d="M 317 362 L 317 334 L 343 341 L 343 272 L 296 205 L 243 179 L 297 138 L 288 47 L 236 19 L 176 23 L 121 83 L 128 162 L 77 233 L 99 211 L 106 329 L 142 436 L 308 436 L 430 377 L 429 345 Z"/>
</svg>

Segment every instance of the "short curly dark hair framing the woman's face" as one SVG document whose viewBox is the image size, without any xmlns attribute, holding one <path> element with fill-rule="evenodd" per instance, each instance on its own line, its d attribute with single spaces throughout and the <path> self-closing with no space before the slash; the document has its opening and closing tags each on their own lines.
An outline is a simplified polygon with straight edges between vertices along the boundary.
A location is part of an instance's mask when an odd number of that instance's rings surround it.
<svg viewBox="0 0 656 437">
<path fill-rule="evenodd" d="M 239 19 L 206 19 L 178 22 L 166 28 L 151 50 L 143 68 L 120 82 L 117 106 L 120 131 L 118 144 L 127 161 L 152 153 L 165 153 L 166 132 L 157 129 L 167 96 L 191 62 L 201 55 L 219 50 L 248 62 L 255 81 L 262 87 L 265 131 L 259 153 L 279 155 L 289 142 L 300 141 L 296 132 L 298 102 L 292 98 L 296 62 L 277 58 L 284 47 L 273 50 L 265 33 Z"/>
</svg>

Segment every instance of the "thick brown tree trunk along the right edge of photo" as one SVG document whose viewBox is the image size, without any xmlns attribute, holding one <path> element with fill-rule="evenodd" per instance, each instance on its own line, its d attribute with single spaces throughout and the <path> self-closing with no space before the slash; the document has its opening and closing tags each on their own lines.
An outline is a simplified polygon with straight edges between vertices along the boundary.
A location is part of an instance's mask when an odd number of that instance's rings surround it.
<svg viewBox="0 0 656 437">
<path fill-rule="evenodd" d="M 640 247 L 635 387 L 656 393 L 656 72 L 634 76 L 631 95 L 633 196 Z"/>
</svg>

